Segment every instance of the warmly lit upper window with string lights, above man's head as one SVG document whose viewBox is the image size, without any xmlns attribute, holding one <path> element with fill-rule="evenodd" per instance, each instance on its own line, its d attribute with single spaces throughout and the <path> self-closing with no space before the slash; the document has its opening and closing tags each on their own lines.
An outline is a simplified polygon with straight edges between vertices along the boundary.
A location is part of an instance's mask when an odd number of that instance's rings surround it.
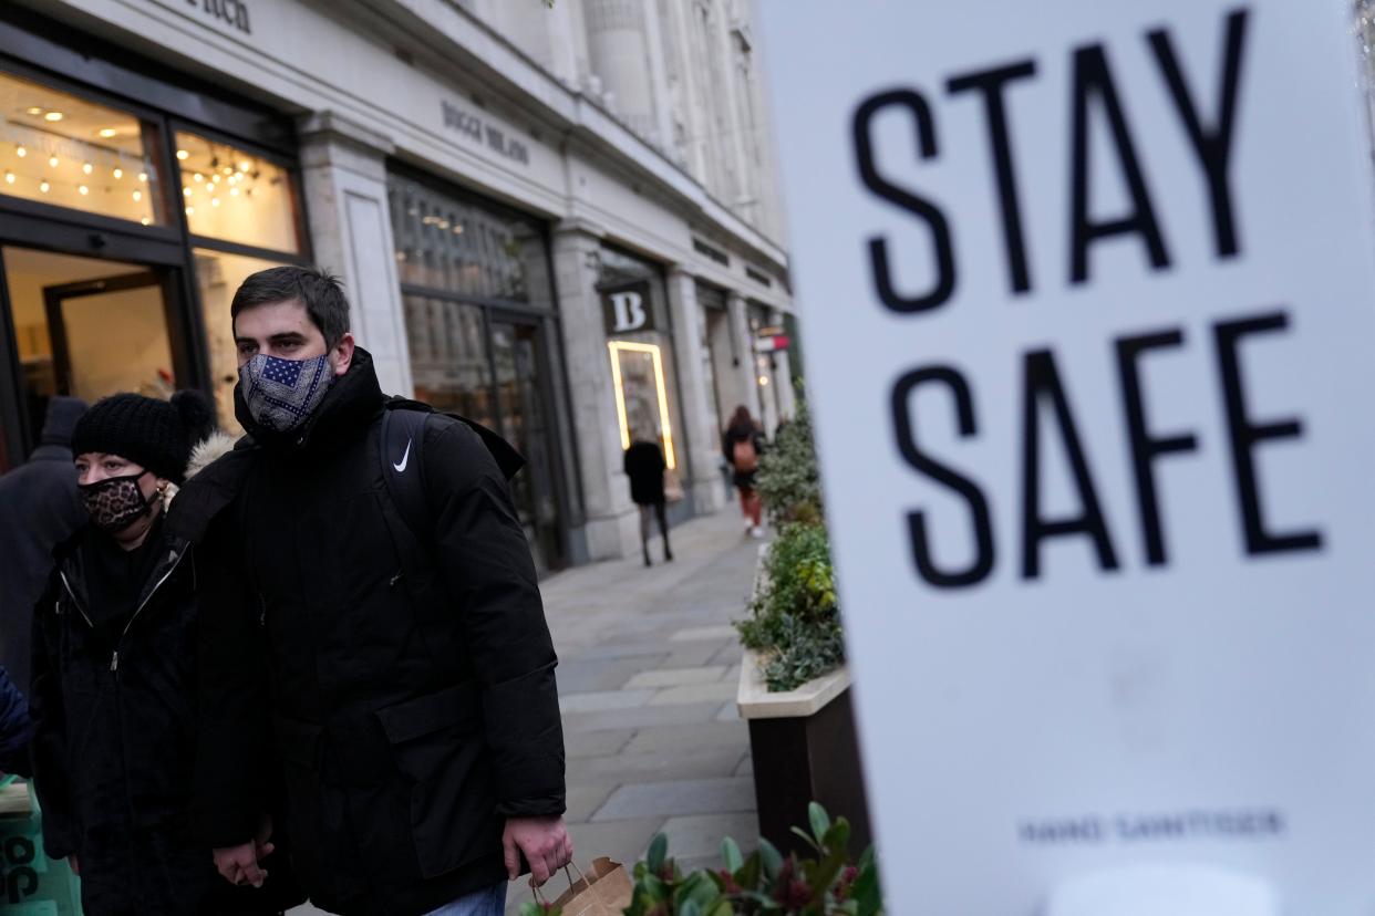
<svg viewBox="0 0 1375 916">
<path fill-rule="evenodd" d="M 227 143 L 179 130 L 182 206 L 191 235 L 275 251 L 301 251 L 290 173 Z"/>
</svg>

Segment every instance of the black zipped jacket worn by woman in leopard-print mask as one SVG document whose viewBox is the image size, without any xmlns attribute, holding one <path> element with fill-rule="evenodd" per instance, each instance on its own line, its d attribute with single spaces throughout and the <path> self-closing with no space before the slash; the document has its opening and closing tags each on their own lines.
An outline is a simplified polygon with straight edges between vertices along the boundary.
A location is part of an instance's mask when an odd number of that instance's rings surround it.
<svg viewBox="0 0 1375 916">
<path fill-rule="evenodd" d="M 179 503 L 150 534 L 155 553 L 132 614 L 103 612 L 91 586 L 91 538 L 107 537 L 94 525 L 58 549 L 34 614 L 32 757 L 44 849 L 80 857 L 92 916 L 271 913 L 302 897 L 285 862 L 272 865 L 265 890 L 231 887 L 191 832 L 194 541 L 204 519 Z"/>
</svg>

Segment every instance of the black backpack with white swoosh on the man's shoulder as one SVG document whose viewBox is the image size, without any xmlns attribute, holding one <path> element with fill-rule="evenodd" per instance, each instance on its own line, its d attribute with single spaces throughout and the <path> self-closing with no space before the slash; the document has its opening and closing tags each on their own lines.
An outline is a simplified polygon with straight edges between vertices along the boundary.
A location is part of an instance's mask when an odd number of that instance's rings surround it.
<svg viewBox="0 0 1375 916">
<path fill-rule="evenodd" d="M 402 520 L 422 542 L 428 542 L 428 540 L 419 536 L 429 533 L 434 520 L 429 500 L 425 497 L 425 449 L 422 448 L 425 428 L 430 423 L 455 420 L 477 433 L 507 481 L 525 467 L 524 456 L 510 442 L 481 423 L 458 413 L 443 413 L 422 401 L 403 397 L 388 398 L 377 448 L 378 460 L 382 463 L 382 481 L 386 483 L 386 492 L 392 497 L 392 503 L 396 504 Z"/>
</svg>

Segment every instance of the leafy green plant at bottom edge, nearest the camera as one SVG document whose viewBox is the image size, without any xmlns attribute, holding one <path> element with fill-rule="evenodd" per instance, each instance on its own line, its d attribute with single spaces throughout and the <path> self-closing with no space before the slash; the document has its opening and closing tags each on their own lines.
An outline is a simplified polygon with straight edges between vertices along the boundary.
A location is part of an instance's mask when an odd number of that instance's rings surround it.
<svg viewBox="0 0 1375 916">
<path fill-rule="evenodd" d="M 635 864 L 635 893 L 626 916 L 877 916 L 883 912 L 873 850 L 850 860 L 850 823 L 830 821 L 826 809 L 808 806 L 810 832 L 793 828 L 814 856 L 786 858 L 760 838 L 745 857 L 729 836 L 720 843 L 722 868 L 683 873 L 668 858 L 668 838 L 654 836 Z"/>
</svg>

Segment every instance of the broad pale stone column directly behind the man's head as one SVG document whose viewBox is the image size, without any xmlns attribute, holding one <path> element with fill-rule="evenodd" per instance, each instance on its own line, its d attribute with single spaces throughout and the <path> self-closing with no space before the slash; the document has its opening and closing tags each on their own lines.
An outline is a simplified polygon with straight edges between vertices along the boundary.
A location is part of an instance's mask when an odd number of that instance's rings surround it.
<svg viewBox="0 0 1375 916">
<path fill-rule="evenodd" d="M 334 111 L 300 124 L 301 181 L 315 262 L 344 282 L 353 336 L 388 394 L 414 391 L 396 244 L 386 201 L 385 136 Z"/>
</svg>

